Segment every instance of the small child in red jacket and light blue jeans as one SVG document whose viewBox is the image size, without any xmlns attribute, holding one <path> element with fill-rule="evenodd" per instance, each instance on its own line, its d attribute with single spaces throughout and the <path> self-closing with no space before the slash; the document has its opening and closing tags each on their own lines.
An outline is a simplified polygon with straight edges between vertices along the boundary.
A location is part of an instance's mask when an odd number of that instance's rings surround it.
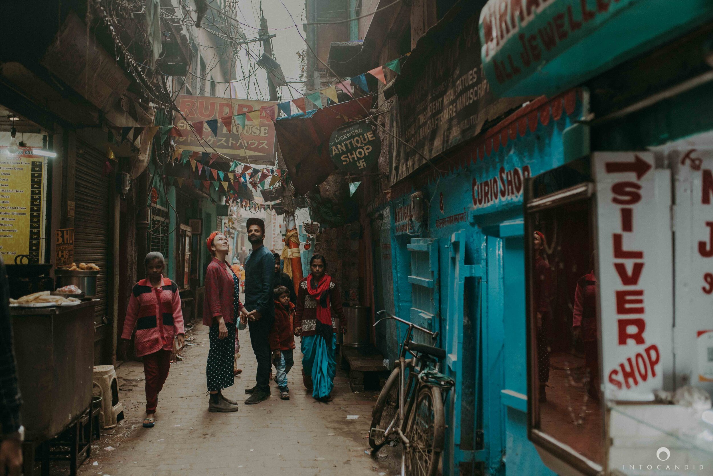
<svg viewBox="0 0 713 476">
<path fill-rule="evenodd" d="M 270 331 L 272 363 L 277 368 L 275 382 L 279 387 L 279 398 L 289 400 L 287 373 L 294 365 L 294 304 L 289 302 L 289 289 L 277 286 L 274 292 L 275 324 Z"/>
</svg>

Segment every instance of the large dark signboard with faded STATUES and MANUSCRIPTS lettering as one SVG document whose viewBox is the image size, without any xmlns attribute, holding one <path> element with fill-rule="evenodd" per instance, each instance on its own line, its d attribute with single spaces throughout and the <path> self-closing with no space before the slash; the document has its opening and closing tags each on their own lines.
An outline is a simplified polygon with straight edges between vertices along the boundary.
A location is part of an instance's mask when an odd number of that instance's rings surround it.
<svg viewBox="0 0 713 476">
<path fill-rule="evenodd" d="M 401 148 L 401 160 L 419 163 L 419 152 L 431 159 L 526 100 L 491 93 L 481 66 L 479 9 L 463 3 L 419 40 L 396 80 L 401 138 L 412 147 Z"/>
</svg>

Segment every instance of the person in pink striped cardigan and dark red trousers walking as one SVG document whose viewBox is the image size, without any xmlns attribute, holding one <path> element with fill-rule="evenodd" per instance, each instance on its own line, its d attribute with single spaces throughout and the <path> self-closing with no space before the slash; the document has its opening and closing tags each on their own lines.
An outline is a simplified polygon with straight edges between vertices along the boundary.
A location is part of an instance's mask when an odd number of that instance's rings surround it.
<svg viewBox="0 0 713 476">
<path fill-rule="evenodd" d="M 152 428 L 158 393 L 168 377 L 173 338 L 178 338 L 178 348 L 183 347 L 183 312 L 180 309 L 178 286 L 163 277 L 163 254 L 150 252 L 144 260 L 146 279 L 133 287 L 126 309 L 121 338 L 128 341 L 134 327 L 136 355 L 143 357 L 146 386 L 145 428 Z"/>
</svg>

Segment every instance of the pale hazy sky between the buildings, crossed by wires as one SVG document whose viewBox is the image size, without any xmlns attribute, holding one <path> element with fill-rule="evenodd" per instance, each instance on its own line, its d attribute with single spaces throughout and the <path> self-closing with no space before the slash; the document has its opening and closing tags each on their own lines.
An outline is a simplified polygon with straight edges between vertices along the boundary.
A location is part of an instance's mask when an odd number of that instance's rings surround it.
<svg viewBox="0 0 713 476">
<path fill-rule="evenodd" d="M 284 2 L 284 6 L 282 5 Z M 260 27 L 260 4 L 262 11 L 267 19 L 267 26 L 270 33 L 275 33 L 277 36 L 272 38 L 272 49 L 275 53 L 277 62 L 282 66 L 282 72 L 287 81 L 297 81 L 299 79 L 299 58 L 297 52 L 302 52 L 305 48 L 304 40 L 300 36 L 304 36 L 302 31 L 302 22 L 304 21 L 304 0 L 240 0 L 240 21 L 252 26 L 243 26 L 243 31 L 248 38 L 257 37 L 257 28 Z M 287 9 L 285 9 L 287 6 Z M 288 13 L 289 10 L 289 13 Z M 297 24 L 299 30 L 294 27 L 290 14 L 294 16 L 294 23 Z M 242 65 L 245 68 L 245 73 L 250 73 L 248 68 L 248 57 L 255 58 L 262 54 L 260 43 L 252 43 L 250 45 L 251 54 L 247 55 L 245 51 L 240 52 Z M 254 61 L 252 61 L 254 63 Z M 242 78 L 242 71 L 238 67 L 237 77 Z M 247 81 L 241 81 L 237 85 L 237 93 L 242 98 L 249 99 L 265 99 L 269 98 L 267 89 L 267 74 L 265 70 L 260 68 L 257 73 L 250 78 L 250 88 L 247 87 Z M 291 84 L 282 86 L 278 93 L 282 95 L 282 100 L 291 100 L 302 95 L 304 90 L 303 84 Z"/>
</svg>

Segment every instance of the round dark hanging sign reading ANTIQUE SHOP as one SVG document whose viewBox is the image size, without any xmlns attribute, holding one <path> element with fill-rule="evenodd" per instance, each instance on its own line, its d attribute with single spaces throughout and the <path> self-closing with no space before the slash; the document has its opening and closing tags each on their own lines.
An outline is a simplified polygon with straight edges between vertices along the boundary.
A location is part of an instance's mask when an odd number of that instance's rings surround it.
<svg viewBox="0 0 713 476">
<path fill-rule="evenodd" d="M 381 154 L 381 139 L 364 121 L 348 123 L 329 138 L 329 155 L 344 172 L 366 172 Z"/>
</svg>

